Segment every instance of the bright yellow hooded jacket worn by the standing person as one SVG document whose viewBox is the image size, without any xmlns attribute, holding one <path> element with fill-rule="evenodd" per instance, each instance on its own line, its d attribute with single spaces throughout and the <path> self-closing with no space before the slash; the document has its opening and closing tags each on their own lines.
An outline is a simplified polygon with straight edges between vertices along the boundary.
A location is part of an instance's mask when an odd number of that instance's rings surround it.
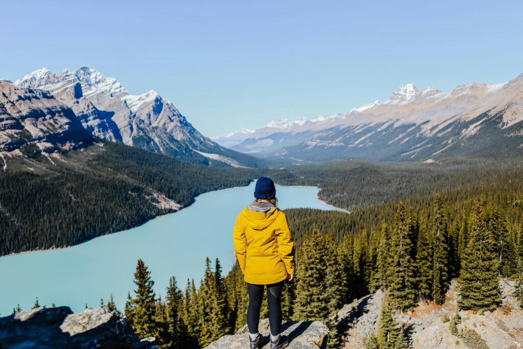
<svg viewBox="0 0 523 349">
<path fill-rule="evenodd" d="M 263 213 L 245 207 L 236 217 L 233 243 L 245 282 L 268 285 L 294 274 L 294 242 L 278 208 Z"/>
</svg>

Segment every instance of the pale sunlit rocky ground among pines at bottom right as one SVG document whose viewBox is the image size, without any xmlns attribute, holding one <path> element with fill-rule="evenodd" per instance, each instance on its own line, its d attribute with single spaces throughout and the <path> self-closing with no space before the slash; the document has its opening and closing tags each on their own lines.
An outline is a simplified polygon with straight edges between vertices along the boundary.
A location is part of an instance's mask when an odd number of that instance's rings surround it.
<svg viewBox="0 0 523 349">
<path fill-rule="evenodd" d="M 421 302 L 413 311 L 396 313 L 396 321 L 407 329 L 413 348 L 510 348 L 523 347 L 523 310 L 514 298 L 514 282 L 501 280 L 502 306 L 483 314 L 460 311 L 458 336 L 449 328 L 449 319 L 456 314 L 456 287 L 452 281 L 446 301 L 438 306 Z M 367 338 L 378 333 L 383 292 L 356 299 L 338 311 L 338 318 L 346 326 L 344 349 L 364 348 Z"/>
</svg>

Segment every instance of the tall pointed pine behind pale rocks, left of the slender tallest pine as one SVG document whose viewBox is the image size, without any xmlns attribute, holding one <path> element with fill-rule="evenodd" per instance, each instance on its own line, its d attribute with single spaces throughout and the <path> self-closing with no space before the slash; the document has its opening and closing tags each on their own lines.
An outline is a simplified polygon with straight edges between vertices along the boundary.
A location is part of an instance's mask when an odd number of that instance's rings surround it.
<svg viewBox="0 0 523 349">
<path fill-rule="evenodd" d="M 389 287 L 390 302 L 394 309 L 405 311 L 416 305 L 416 279 L 412 259 L 413 242 L 405 205 L 400 201 L 392 227 L 393 258 Z"/>
</svg>

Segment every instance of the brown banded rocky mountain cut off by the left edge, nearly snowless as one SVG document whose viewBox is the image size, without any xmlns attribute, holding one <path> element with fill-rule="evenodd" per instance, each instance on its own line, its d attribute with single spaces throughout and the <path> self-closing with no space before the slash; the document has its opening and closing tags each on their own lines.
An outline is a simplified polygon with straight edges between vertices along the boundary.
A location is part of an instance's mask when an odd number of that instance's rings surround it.
<svg viewBox="0 0 523 349">
<path fill-rule="evenodd" d="M 46 91 L 0 80 L 0 157 L 83 148 L 93 137 L 74 112 Z M 26 154 L 27 155 L 27 154 Z"/>
</svg>

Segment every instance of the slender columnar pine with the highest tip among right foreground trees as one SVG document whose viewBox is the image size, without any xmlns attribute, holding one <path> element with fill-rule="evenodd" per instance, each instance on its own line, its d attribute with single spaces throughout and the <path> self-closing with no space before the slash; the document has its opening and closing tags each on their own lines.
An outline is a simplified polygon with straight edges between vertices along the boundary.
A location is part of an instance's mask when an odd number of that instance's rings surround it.
<svg viewBox="0 0 523 349">
<path fill-rule="evenodd" d="M 436 304 L 445 303 L 445 294 L 448 288 L 448 230 L 447 219 L 444 215 L 444 206 L 441 195 L 436 195 L 434 199 L 434 210 L 432 217 L 432 237 L 433 237 L 433 289 L 432 296 Z"/>
</svg>

